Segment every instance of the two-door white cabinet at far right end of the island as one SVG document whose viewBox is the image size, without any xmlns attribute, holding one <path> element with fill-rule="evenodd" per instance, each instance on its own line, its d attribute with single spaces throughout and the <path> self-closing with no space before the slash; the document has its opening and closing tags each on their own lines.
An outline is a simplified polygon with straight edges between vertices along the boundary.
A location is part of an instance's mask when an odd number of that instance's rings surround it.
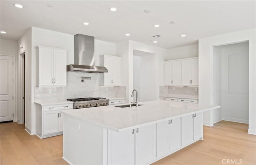
<svg viewBox="0 0 256 165">
<path fill-rule="evenodd" d="M 181 117 L 181 144 L 186 146 L 203 137 L 203 113 Z"/>
</svg>

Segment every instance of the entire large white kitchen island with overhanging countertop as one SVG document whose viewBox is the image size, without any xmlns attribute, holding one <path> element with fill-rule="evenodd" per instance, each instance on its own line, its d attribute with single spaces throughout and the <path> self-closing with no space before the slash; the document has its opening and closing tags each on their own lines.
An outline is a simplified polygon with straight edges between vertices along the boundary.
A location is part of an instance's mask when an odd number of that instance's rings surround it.
<svg viewBox="0 0 256 165">
<path fill-rule="evenodd" d="M 203 113 L 217 105 L 170 101 L 61 111 L 63 159 L 72 165 L 145 165 L 203 139 Z"/>
</svg>

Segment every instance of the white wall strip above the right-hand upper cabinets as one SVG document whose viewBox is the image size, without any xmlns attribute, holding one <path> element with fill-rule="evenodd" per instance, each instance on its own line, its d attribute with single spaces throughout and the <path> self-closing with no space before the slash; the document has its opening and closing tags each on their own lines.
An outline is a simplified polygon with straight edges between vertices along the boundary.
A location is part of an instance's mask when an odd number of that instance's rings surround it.
<svg viewBox="0 0 256 165">
<path fill-rule="evenodd" d="M 169 49 L 164 61 L 192 57 L 198 57 L 198 44 Z"/>
</svg>

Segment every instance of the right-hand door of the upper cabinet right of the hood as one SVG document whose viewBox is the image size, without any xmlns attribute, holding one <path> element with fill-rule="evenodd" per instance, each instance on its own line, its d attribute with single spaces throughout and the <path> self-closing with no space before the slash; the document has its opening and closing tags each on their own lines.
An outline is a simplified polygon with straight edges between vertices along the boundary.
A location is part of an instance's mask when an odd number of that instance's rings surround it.
<svg viewBox="0 0 256 165">
<path fill-rule="evenodd" d="M 112 85 L 121 84 L 121 59 L 112 58 Z"/>
</svg>

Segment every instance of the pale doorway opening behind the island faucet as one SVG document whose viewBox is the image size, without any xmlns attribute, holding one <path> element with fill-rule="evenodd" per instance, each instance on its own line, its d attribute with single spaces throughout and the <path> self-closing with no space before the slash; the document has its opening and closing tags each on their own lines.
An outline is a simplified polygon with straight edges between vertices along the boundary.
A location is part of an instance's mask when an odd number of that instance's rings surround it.
<svg viewBox="0 0 256 165">
<path fill-rule="evenodd" d="M 133 50 L 133 89 L 139 102 L 156 100 L 156 54 Z"/>
</svg>

